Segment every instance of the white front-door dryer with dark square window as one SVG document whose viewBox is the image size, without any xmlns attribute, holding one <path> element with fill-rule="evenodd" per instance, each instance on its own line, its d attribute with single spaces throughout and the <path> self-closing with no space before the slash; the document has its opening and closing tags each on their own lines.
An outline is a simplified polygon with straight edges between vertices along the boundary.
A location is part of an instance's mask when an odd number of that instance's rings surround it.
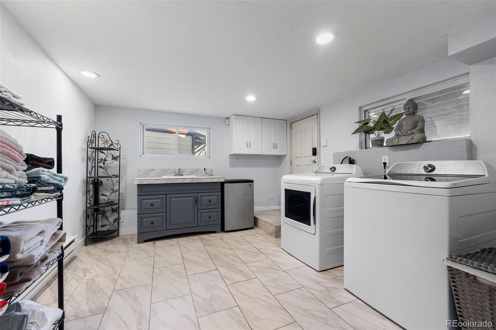
<svg viewBox="0 0 496 330">
<path fill-rule="evenodd" d="M 343 185 L 357 165 L 320 165 L 281 179 L 281 248 L 317 271 L 343 265 Z"/>
</svg>

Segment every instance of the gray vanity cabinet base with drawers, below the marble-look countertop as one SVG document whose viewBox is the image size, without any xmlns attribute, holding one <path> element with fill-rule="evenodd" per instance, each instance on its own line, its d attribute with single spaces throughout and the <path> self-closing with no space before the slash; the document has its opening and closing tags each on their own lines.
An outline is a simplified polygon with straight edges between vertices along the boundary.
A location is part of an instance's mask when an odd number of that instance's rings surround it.
<svg viewBox="0 0 496 330">
<path fill-rule="evenodd" d="M 220 182 L 138 184 L 138 243 L 156 237 L 220 232 Z"/>
</svg>

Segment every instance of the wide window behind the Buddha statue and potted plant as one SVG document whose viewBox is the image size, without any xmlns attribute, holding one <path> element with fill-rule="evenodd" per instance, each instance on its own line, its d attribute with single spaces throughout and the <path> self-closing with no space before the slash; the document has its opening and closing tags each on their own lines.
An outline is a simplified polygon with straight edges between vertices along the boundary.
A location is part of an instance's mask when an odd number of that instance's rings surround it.
<svg viewBox="0 0 496 330">
<path fill-rule="evenodd" d="M 463 74 L 451 79 L 416 89 L 386 100 L 360 107 L 365 118 L 377 118 L 384 110 L 386 113 L 403 111 L 403 104 L 414 99 L 419 109 L 418 114 L 424 116 L 427 142 L 436 140 L 458 139 L 470 137 L 470 86 L 469 75 Z M 370 136 L 364 134 L 361 149 L 370 148 Z M 394 131 L 383 135 L 385 139 L 392 137 Z"/>
</svg>

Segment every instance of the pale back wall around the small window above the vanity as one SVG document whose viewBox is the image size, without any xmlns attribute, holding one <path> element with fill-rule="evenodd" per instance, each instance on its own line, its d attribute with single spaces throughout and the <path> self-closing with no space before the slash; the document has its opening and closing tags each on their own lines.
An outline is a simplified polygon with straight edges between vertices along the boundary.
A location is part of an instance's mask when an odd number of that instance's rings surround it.
<svg viewBox="0 0 496 330">
<path fill-rule="evenodd" d="M 210 128 L 210 158 L 139 157 L 139 123 L 151 122 Z M 136 207 L 138 168 L 213 168 L 227 179 L 253 179 L 255 207 L 280 205 L 279 168 L 286 156 L 229 155 L 229 126 L 225 118 L 96 106 L 95 127 L 121 141 L 121 209 Z"/>
</svg>

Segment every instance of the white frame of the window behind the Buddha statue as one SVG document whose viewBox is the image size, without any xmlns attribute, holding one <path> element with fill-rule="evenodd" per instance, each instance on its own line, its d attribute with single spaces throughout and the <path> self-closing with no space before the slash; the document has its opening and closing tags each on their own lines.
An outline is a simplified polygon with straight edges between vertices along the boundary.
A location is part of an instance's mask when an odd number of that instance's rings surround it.
<svg viewBox="0 0 496 330">
<path fill-rule="evenodd" d="M 414 90 L 406 92 L 406 93 L 398 94 L 398 95 L 391 96 L 391 97 L 386 98 L 386 99 L 382 99 L 382 100 L 377 101 L 377 102 L 369 103 L 365 106 L 361 106 L 358 108 L 358 111 L 359 111 L 359 119 L 358 120 L 365 119 L 366 118 L 366 111 L 368 111 L 368 110 L 372 110 L 374 108 L 382 108 L 382 107 L 388 106 L 390 104 L 395 104 L 395 103 L 398 103 L 401 101 L 406 102 L 406 100 L 409 100 L 409 99 L 415 99 L 415 98 L 424 96 L 426 94 L 439 92 L 439 91 L 442 91 L 444 89 L 448 89 L 451 87 L 455 87 L 455 86 L 463 85 L 463 84 L 467 84 L 467 83 L 470 84 L 470 75 L 468 72 L 464 73 L 464 74 L 460 74 L 460 75 L 452 77 L 452 78 L 449 78 L 449 79 L 446 79 L 446 80 L 436 82 L 434 84 L 431 84 L 431 85 L 428 85 L 425 87 L 414 89 Z M 470 110 L 469 110 L 469 113 L 470 113 Z M 438 139 L 438 140 L 434 140 L 434 141 L 455 140 L 455 139 L 462 139 L 462 138 L 467 138 L 467 136 L 457 136 L 457 137 L 454 136 L 454 137 L 445 138 L 445 139 Z M 366 134 L 364 134 L 364 138 L 360 139 L 360 141 L 359 141 L 359 148 L 360 149 L 370 148 L 368 146 L 368 142 L 369 142 L 368 137 Z M 426 142 L 431 142 L 431 140 L 428 140 Z"/>
</svg>

